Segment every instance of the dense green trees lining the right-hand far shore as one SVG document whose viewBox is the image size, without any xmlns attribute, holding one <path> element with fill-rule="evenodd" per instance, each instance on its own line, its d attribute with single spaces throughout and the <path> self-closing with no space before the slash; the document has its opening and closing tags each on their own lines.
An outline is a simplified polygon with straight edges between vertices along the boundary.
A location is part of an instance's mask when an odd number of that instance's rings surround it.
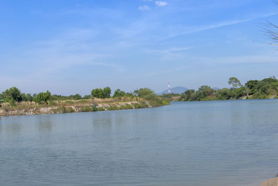
<svg viewBox="0 0 278 186">
<path fill-rule="evenodd" d="M 180 95 L 179 101 L 277 98 L 278 80 L 274 76 L 261 81 L 250 80 L 244 85 L 236 77 L 231 77 L 228 84 L 231 85 L 230 88 L 213 89 L 210 86 L 201 86 L 197 91 L 187 90 Z M 161 95 L 163 98 L 174 96 L 177 94 Z"/>
</svg>

